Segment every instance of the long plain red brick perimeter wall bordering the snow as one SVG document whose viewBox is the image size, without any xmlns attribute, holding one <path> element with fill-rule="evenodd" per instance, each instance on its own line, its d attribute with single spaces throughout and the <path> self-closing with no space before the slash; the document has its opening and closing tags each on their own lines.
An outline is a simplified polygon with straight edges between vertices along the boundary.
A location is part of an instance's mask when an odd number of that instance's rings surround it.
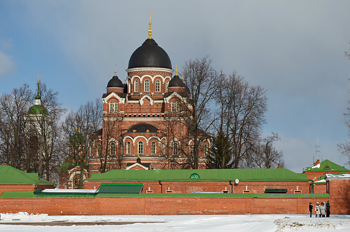
<svg viewBox="0 0 350 232">
<path fill-rule="evenodd" d="M 0 212 L 25 211 L 49 215 L 309 214 L 310 201 L 315 204 L 328 200 L 229 197 L 2 198 Z M 349 208 L 333 207 L 332 213 L 350 213 Z"/>
</svg>

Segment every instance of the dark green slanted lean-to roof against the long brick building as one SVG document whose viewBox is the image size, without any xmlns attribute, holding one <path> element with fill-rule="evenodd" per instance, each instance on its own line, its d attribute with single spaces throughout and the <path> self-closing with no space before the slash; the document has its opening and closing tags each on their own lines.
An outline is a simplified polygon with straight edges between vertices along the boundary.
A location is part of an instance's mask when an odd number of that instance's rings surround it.
<svg viewBox="0 0 350 232">
<path fill-rule="evenodd" d="M 142 183 L 101 183 L 96 193 L 138 194 L 143 187 Z"/>
</svg>

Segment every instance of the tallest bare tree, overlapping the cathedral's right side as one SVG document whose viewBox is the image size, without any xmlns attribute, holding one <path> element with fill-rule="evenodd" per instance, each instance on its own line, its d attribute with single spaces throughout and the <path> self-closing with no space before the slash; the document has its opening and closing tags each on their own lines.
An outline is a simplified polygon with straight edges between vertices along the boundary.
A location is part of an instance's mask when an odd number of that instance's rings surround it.
<svg viewBox="0 0 350 232">
<path fill-rule="evenodd" d="M 209 138 L 207 132 L 212 123 L 210 103 L 218 77 L 211 63 L 209 56 L 185 62 L 182 74 L 188 89 L 174 94 L 172 101 L 176 103 L 165 115 L 168 139 L 173 141 L 168 142 L 168 150 L 172 150 L 169 154 L 174 162 L 178 156 L 181 163 L 177 165 L 184 169 L 198 169 L 199 156 L 204 152 L 203 142 Z"/>
</svg>

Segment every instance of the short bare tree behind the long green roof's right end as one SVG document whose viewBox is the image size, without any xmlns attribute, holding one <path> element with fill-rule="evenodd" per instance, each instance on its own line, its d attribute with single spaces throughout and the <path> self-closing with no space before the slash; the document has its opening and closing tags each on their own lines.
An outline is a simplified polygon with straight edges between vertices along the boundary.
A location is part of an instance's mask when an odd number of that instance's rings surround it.
<svg viewBox="0 0 350 232">
<path fill-rule="evenodd" d="M 277 168 L 284 167 L 283 153 L 278 151 L 273 146 L 273 142 L 279 141 L 280 137 L 277 133 L 272 132 L 272 135 L 264 138 L 251 150 L 247 157 L 246 167 L 249 168 Z"/>
</svg>

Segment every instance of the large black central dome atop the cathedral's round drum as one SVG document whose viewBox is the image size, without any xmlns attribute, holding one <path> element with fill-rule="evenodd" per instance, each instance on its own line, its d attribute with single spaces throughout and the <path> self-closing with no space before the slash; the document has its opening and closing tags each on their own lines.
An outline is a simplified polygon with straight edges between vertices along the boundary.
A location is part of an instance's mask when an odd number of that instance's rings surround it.
<svg viewBox="0 0 350 232">
<path fill-rule="evenodd" d="M 167 52 L 150 38 L 138 47 L 129 59 L 128 69 L 143 67 L 172 69 L 172 62 Z"/>
</svg>

